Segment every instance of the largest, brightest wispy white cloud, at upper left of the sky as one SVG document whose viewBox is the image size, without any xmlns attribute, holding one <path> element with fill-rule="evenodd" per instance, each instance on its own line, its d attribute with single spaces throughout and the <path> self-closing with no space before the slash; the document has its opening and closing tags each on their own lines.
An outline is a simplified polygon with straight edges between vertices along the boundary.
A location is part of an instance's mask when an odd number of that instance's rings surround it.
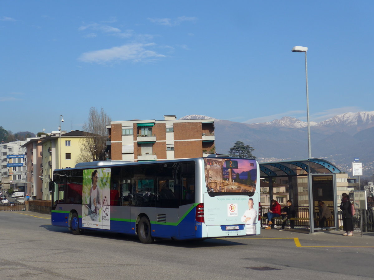
<svg viewBox="0 0 374 280">
<path fill-rule="evenodd" d="M 153 46 L 155 46 L 154 43 L 126 44 L 120 47 L 113 47 L 111 49 L 83 53 L 78 59 L 82 62 L 105 64 L 123 60 L 130 60 L 132 62 L 148 62 L 165 57 L 165 55 L 161 55 L 153 50 L 150 50 L 150 48 Z"/>
</svg>

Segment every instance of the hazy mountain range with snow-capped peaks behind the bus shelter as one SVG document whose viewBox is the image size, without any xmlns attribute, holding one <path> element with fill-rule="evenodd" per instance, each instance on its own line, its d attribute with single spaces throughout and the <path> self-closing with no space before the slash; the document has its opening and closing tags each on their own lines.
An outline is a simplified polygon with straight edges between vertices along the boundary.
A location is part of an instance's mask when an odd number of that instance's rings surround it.
<svg viewBox="0 0 374 280">
<path fill-rule="evenodd" d="M 189 115 L 181 119 L 208 118 Z M 344 113 L 310 124 L 314 158 L 327 159 L 350 173 L 353 158 L 359 157 L 364 175 L 374 173 L 374 111 Z M 299 119 L 283 117 L 257 124 L 215 119 L 214 126 L 218 153 L 228 153 L 236 141 L 243 141 L 255 148 L 254 155 L 260 161 L 307 158 L 307 123 Z"/>
</svg>

